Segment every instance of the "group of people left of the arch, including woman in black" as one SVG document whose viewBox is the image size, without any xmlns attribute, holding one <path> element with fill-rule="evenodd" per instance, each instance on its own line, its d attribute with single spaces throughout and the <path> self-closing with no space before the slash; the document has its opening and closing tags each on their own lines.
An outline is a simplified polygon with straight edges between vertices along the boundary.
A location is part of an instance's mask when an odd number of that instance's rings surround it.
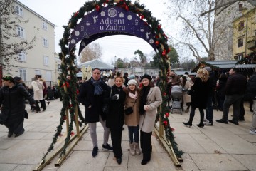
<svg viewBox="0 0 256 171">
<path fill-rule="evenodd" d="M 3 86 L 0 88 L 0 124 L 5 125 L 8 128 L 8 137 L 12 135 L 18 137 L 25 131 L 23 128 L 24 119 L 28 118 L 28 112 L 26 111 L 26 103 L 31 105 L 31 111 L 40 113 L 41 108 L 46 110 L 46 104 L 49 105 L 50 101 L 46 98 L 50 98 L 50 87 L 46 87 L 46 81 L 43 78 L 35 76 L 29 86 L 23 83 L 21 77 L 3 76 Z M 57 95 L 53 95 L 57 98 Z M 39 106 L 40 103 L 40 106 Z"/>
</svg>

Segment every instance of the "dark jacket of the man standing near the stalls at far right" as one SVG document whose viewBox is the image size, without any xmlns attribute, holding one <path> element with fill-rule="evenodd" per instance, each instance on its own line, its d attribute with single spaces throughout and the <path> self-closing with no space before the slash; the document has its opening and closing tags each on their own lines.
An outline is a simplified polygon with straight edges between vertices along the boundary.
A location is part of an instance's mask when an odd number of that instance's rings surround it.
<svg viewBox="0 0 256 171">
<path fill-rule="evenodd" d="M 247 86 L 247 79 L 240 73 L 234 73 L 228 77 L 225 86 L 225 95 L 244 95 Z"/>
</svg>

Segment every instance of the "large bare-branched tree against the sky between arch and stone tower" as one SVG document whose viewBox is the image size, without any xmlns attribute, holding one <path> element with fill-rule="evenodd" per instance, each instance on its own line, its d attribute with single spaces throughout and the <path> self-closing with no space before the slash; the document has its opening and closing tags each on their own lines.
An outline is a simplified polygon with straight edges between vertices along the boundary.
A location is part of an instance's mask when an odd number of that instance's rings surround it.
<svg viewBox="0 0 256 171">
<path fill-rule="evenodd" d="M 183 23 L 180 41 L 178 44 L 188 47 L 198 61 L 202 56 L 208 56 L 208 60 L 215 60 L 215 47 L 221 40 L 225 30 L 230 24 L 215 24 L 216 11 L 201 16 L 203 11 L 215 8 L 215 0 L 179 1 L 169 0 L 169 17 L 176 16 Z M 218 27 L 218 34 L 215 29 Z"/>
</svg>

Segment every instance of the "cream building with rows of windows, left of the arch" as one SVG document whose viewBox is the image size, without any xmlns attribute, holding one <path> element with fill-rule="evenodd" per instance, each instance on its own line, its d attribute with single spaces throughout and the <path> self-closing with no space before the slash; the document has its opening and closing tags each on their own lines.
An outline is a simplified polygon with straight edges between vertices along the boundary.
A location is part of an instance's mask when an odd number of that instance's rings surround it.
<svg viewBox="0 0 256 171">
<path fill-rule="evenodd" d="M 11 59 L 10 63 L 16 67 L 3 69 L 3 75 L 20 76 L 25 83 L 31 82 L 35 75 L 55 82 L 55 25 L 19 1 L 14 1 L 14 10 L 13 19 L 21 21 L 15 30 L 18 36 L 5 43 L 31 41 L 35 36 L 36 41 L 33 48 L 17 54 L 18 61 Z"/>
</svg>

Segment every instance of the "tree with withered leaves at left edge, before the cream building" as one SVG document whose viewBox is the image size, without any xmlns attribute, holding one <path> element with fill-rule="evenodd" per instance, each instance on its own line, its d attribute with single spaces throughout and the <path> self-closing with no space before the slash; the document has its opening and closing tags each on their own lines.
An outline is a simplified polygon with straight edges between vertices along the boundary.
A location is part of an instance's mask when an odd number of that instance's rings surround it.
<svg viewBox="0 0 256 171">
<path fill-rule="evenodd" d="M 19 41 L 16 29 L 21 23 L 28 23 L 28 20 L 16 16 L 14 0 L 0 0 L 0 66 L 6 71 L 14 67 L 11 60 L 19 61 L 18 55 L 33 48 L 36 41 L 36 36 L 31 41 Z"/>
</svg>

